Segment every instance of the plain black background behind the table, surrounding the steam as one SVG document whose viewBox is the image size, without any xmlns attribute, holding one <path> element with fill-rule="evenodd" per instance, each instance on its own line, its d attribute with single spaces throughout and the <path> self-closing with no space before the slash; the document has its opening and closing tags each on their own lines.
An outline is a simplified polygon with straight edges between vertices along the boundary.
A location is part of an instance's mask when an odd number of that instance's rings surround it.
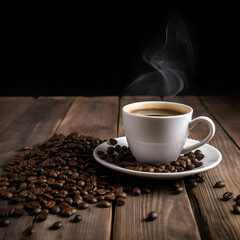
<svg viewBox="0 0 240 240">
<path fill-rule="evenodd" d="M 237 5 L 21 6 L 3 29 L 2 96 L 121 95 L 171 14 L 187 25 L 195 71 L 180 94 L 239 94 Z M 164 35 L 163 35 L 164 36 Z"/>
</svg>

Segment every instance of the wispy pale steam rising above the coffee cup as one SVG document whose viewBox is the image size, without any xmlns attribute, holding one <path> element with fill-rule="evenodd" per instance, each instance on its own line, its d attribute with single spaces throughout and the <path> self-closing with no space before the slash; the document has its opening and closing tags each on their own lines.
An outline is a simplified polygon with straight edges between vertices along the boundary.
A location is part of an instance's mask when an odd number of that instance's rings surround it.
<svg viewBox="0 0 240 240">
<path fill-rule="evenodd" d="M 158 41 L 143 54 L 149 72 L 134 80 L 125 89 L 125 95 L 158 95 L 163 98 L 177 95 L 188 84 L 186 72 L 193 69 L 193 47 L 182 18 L 170 17 L 165 33 L 164 44 Z"/>
</svg>

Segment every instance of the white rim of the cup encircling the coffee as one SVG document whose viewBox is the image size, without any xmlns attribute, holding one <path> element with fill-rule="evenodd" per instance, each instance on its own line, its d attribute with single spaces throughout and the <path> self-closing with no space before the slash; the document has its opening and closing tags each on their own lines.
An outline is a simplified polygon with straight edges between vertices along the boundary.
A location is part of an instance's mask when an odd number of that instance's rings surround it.
<svg viewBox="0 0 240 240">
<path fill-rule="evenodd" d="M 126 111 L 126 108 L 130 107 L 130 106 L 133 106 L 133 105 L 141 105 L 141 104 L 154 104 L 154 103 L 162 103 L 162 104 L 171 104 L 171 105 L 178 105 L 178 106 L 182 106 L 182 107 L 186 107 L 188 108 L 190 111 L 187 112 L 187 113 L 183 113 L 183 114 L 180 114 L 180 115 L 175 115 L 175 116 L 145 116 L 145 115 L 140 115 L 140 114 L 134 114 L 134 113 L 130 113 L 130 112 L 127 112 Z M 168 119 L 168 118 L 180 118 L 180 117 L 184 117 L 188 114 L 191 114 L 193 113 L 193 109 L 186 105 L 186 104 L 183 104 L 183 103 L 177 103 L 177 102 L 168 102 L 168 101 L 141 101 L 141 102 L 134 102 L 134 103 L 129 103 L 125 106 L 122 107 L 122 111 L 129 115 L 129 116 L 134 116 L 134 117 L 140 117 L 140 118 L 150 118 L 150 119 Z"/>
</svg>

